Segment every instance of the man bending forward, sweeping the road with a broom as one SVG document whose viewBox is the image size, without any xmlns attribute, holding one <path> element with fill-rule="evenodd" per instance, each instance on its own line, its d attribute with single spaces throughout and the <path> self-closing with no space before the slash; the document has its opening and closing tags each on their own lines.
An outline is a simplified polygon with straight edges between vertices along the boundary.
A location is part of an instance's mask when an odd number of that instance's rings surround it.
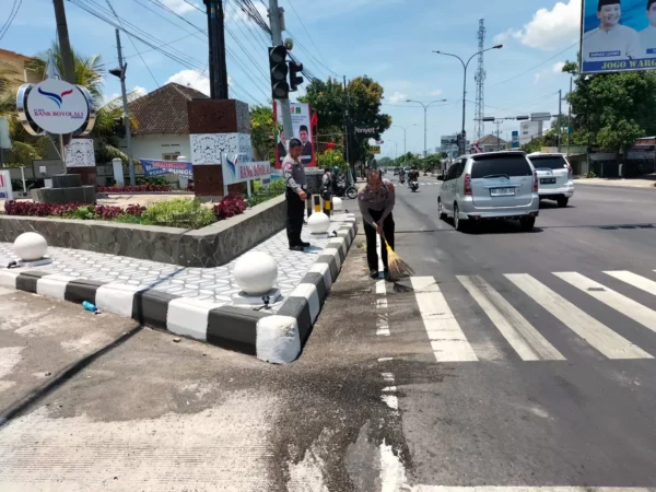
<svg viewBox="0 0 656 492">
<path fill-rule="evenodd" d="M 358 203 L 362 220 L 364 222 L 364 234 L 366 236 L 366 262 L 372 279 L 378 277 L 378 251 L 376 250 L 376 235 L 385 238 L 385 242 L 394 249 L 394 210 L 396 192 L 389 179 L 384 179 L 380 172 L 370 169 L 366 175 L 366 184 L 358 192 Z M 389 272 L 387 263 L 387 248 L 385 242 L 380 241 L 380 257 L 385 278 Z"/>
</svg>

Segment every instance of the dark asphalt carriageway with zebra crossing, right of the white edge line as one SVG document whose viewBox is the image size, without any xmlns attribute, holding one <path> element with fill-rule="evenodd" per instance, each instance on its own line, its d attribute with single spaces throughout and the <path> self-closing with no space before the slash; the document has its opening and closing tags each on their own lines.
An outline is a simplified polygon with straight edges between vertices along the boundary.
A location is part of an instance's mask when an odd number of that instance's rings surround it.
<svg viewBox="0 0 656 492">
<path fill-rule="evenodd" d="M 578 186 L 532 233 L 458 233 L 438 189 L 397 187 L 415 274 L 378 295 L 400 482 L 656 487 L 656 190 Z"/>
</svg>

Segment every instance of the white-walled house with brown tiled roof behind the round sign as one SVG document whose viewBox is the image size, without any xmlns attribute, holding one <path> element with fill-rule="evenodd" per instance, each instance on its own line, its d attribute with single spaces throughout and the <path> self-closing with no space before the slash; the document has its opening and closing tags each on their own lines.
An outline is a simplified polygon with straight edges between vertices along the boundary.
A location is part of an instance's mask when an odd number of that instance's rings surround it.
<svg viewBox="0 0 656 492">
<path fill-rule="evenodd" d="M 191 159 L 187 102 L 208 98 L 202 92 L 176 83 L 132 101 L 128 107 L 137 121 L 132 131 L 134 159 L 175 161 L 178 155 Z M 125 139 L 120 148 L 127 150 Z"/>
</svg>

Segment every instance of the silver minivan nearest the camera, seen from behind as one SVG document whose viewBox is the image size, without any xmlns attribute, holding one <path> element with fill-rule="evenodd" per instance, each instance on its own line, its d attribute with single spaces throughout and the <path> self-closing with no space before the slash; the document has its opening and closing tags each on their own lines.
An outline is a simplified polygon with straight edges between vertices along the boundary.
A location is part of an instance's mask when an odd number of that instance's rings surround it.
<svg viewBox="0 0 656 492">
<path fill-rule="evenodd" d="M 490 219 L 517 219 L 532 230 L 540 213 L 538 177 L 524 152 L 489 152 L 454 161 L 437 196 L 441 219 L 454 218 L 456 230 Z"/>
</svg>

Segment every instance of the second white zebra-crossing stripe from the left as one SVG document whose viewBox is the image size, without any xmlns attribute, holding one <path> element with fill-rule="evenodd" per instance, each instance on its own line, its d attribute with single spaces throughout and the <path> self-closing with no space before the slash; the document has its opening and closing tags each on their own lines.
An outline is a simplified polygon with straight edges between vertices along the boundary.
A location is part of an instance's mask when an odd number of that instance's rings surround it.
<svg viewBox="0 0 656 492">
<path fill-rule="evenodd" d="M 565 358 L 480 276 L 457 276 L 501 335 L 523 361 L 564 361 Z"/>
</svg>

